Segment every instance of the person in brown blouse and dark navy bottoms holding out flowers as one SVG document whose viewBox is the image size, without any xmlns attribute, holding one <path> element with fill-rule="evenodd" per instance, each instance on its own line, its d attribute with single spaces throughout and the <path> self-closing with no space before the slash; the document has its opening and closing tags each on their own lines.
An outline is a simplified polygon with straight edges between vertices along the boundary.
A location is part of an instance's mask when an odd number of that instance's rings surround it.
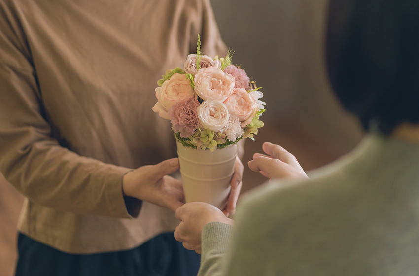
<svg viewBox="0 0 419 276">
<path fill-rule="evenodd" d="M 196 275 L 173 238 L 175 138 L 151 108 L 198 33 L 226 54 L 210 0 L 0 0 L 0 171 L 26 197 L 17 276 Z"/>
</svg>

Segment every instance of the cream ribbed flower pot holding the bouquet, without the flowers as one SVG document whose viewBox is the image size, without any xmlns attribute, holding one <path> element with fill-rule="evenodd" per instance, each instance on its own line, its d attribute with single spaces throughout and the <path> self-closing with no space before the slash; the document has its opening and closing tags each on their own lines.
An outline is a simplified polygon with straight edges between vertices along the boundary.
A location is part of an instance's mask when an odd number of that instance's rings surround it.
<svg viewBox="0 0 419 276">
<path fill-rule="evenodd" d="M 237 145 L 211 152 L 184 147 L 176 141 L 186 202 L 206 202 L 220 210 L 227 204 Z"/>
</svg>

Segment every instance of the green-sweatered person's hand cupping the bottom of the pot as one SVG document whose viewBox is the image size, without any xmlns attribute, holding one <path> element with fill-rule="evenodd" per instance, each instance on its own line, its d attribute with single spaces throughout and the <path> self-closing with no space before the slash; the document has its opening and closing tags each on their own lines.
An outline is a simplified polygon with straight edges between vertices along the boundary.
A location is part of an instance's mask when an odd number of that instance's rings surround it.
<svg viewBox="0 0 419 276">
<path fill-rule="evenodd" d="M 176 210 L 176 218 L 181 221 L 175 230 L 176 241 L 183 242 L 183 247 L 198 254 L 201 254 L 201 232 L 207 223 L 234 223 L 217 207 L 203 202 L 186 203 Z"/>
</svg>

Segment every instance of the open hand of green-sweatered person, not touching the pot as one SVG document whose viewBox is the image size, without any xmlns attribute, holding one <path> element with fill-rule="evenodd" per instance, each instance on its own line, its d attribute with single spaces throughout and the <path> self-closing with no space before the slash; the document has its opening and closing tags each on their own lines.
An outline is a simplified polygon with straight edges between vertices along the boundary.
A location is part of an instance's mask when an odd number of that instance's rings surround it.
<svg viewBox="0 0 419 276">
<path fill-rule="evenodd" d="M 255 153 L 249 161 L 250 170 L 259 172 L 269 179 L 274 178 L 309 178 L 291 153 L 279 145 L 263 143 L 263 151 L 267 154 Z"/>
</svg>

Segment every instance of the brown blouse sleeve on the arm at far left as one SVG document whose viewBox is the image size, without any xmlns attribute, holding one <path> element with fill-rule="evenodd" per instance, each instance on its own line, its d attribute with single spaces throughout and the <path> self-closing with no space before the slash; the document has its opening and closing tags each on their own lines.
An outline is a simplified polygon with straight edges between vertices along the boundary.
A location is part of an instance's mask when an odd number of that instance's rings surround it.
<svg viewBox="0 0 419 276">
<path fill-rule="evenodd" d="M 11 2 L 11 1 L 10 1 Z M 0 1 L 0 171 L 31 201 L 61 211 L 131 218 L 130 169 L 79 156 L 51 137 L 30 49 L 11 3 Z"/>
</svg>

